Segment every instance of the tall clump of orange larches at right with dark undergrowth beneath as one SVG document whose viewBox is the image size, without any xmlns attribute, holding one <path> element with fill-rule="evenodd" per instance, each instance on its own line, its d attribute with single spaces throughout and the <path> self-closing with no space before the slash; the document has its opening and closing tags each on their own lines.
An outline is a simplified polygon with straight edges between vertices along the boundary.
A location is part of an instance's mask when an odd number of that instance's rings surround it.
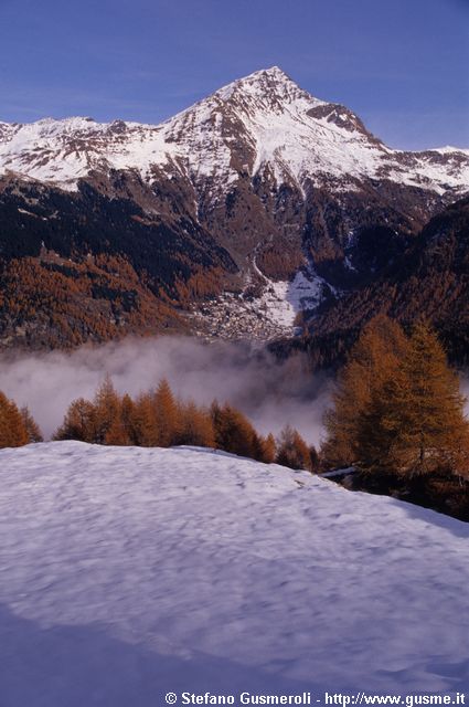
<svg viewBox="0 0 469 707">
<path fill-rule="evenodd" d="M 469 423 L 435 331 L 385 315 L 362 330 L 326 414 L 322 468 L 353 467 L 354 489 L 469 520 Z"/>
</svg>

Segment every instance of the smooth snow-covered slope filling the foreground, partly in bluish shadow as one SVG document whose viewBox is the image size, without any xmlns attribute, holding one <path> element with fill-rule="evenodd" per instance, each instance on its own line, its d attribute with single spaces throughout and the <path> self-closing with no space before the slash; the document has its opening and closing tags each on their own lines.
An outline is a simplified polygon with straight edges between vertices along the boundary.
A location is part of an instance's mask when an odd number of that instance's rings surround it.
<svg viewBox="0 0 469 707">
<path fill-rule="evenodd" d="M 1 707 L 468 688 L 468 525 L 184 447 L 0 474 Z"/>
</svg>

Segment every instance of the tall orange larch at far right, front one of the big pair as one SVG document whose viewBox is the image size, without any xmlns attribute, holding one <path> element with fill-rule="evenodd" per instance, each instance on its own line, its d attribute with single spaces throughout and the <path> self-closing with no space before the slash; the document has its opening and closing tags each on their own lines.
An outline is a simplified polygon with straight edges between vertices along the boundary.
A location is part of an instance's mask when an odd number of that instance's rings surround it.
<svg viewBox="0 0 469 707">
<path fill-rule="evenodd" d="M 398 370 L 376 388 L 362 415 L 359 466 L 420 476 L 469 472 L 469 425 L 459 379 L 436 335 L 418 324 Z"/>
</svg>

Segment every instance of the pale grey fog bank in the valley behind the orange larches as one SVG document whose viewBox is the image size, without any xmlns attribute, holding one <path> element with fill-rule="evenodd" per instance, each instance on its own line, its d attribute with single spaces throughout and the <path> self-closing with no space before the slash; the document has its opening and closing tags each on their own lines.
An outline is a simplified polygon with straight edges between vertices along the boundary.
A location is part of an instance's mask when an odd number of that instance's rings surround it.
<svg viewBox="0 0 469 707">
<path fill-rule="evenodd" d="M 128 339 L 71 354 L 21 354 L 0 359 L 0 390 L 28 405 L 49 439 L 75 398 L 93 398 L 105 374 L 136 395 L 167 378 L 177 395 L 238 407 L 257 430 L 278 433 L 289 423 L 317 444 L 330 383 L 312 376 L 303 356 L 279 362 L 241 344 L 183 337 Z"/>
</svg>

